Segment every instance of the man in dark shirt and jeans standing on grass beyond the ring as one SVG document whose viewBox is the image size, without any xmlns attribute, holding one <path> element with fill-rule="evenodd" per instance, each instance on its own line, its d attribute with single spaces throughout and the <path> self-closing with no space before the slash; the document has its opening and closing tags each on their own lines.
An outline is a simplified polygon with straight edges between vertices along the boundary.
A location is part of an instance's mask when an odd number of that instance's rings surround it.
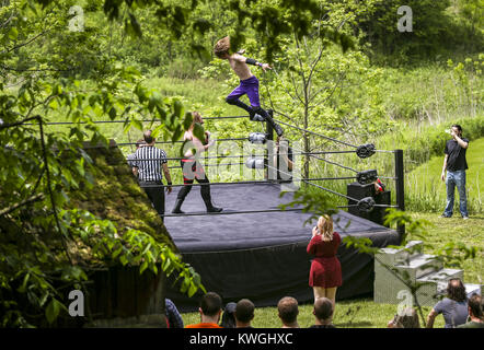
<svg viewBox="0 0 484 350">
<path fill-rule="evenodd" d="M 465 171 L 469 168 L 465 160 L 465 151 L 469 147 L 469 140 L 462 138 L 462 128 L 460 125 L 453 125 L 450 129 L 450 135 L 452 136 L 452 140 L 446 143 L 446 149 L 443 150 L 446 156 L 443 159 L 442 174 L 440 175 L 447 186 L 447 206 L 442 218 L 452 217 L 457 186 L 461 215 L 463 219 L 469 219 L 468 198 L 465 194 Z"/>
</svg>

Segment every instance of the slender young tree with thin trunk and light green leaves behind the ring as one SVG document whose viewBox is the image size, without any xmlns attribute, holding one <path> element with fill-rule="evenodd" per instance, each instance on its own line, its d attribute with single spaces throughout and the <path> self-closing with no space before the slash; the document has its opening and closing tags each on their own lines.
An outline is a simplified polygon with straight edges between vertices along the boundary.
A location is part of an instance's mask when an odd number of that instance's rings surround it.
<svg viewBox="0 0 484 350">
<path fill-rule="evenodd" d="M 302 132 L 303 153 L 352 145 L 347 142 L 360 142 L 387 124 L 381 110 L 373 108 L 379 103 L 380 92 L 372 84 L 379 70 L 355 49 L 356 38 L 347 25 L 352 21 L 352 13 L 322 8 L 308 36 L 299 38 L 293 33 L 291 39 L 285 40 L 284 56 L 275 59 L 275 75 L 268 75 L 270 83 L 262 90 L 266 108 L 274 109 L 276 116 L 326 137 L 312 138 Z M 310 156 L 304 158 L 306 178 L 310 177 L 309 160 Z"/>
</svg>

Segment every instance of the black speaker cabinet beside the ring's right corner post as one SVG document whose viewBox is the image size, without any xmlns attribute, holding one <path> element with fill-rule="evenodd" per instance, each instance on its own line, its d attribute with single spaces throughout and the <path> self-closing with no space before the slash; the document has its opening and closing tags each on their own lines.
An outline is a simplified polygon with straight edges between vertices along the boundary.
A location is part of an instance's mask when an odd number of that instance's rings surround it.
<svg viewBox="0 0 484 350">
<path fill-rule="evenodd" d="M 391 203 L 391 192 L 389 190 L 385 190 L 384 192 L 376 194 L 374 185 L 373 184 L 367 184 L 367 185 L 360 185 L 359 183 L 352 183 L 348 184 L 346 187 L 348 197 L 355 198 L 355 199 L 362 199 L 365 197 L 373 197 L 374 202 L 377 205 L 387 205 L 390 206 Z M 348 199 L 348 206 L 356 205 L 354 200 Z M 372 222 L 376 222 L 380 225 L 383 225 L 384 215 L 385 215 L 387 208 L 381 207 L 374 207 L 372 211 L 370 212 L 362 212 L 359 211 L 357 207 L 349 207 L 348 212 L 350 214 L 370 220 Z"/>
</svg>

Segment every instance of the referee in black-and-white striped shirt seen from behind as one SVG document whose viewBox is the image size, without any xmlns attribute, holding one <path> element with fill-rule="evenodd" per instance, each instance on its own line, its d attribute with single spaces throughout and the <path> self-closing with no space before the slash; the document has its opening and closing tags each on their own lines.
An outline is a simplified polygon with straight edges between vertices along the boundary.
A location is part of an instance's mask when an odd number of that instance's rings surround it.
<svg viewBox="0 0 484 350">
<path fill-rule="evenodd" d="M 146 144 L 141 145 L 135 153 L 135 167 L 138 168 L 139 186 L 153 203 L 154 209 L 163 221 L 164 217 L 164 191 L 163 191 L 163 170 L 166 178 L 166 192 L 172 191 L 172 177 L 168 168 L 166 153 L 154 147 L 155 139 L 151 136 L 151 130 L 143 132 Z"/>
</svg>

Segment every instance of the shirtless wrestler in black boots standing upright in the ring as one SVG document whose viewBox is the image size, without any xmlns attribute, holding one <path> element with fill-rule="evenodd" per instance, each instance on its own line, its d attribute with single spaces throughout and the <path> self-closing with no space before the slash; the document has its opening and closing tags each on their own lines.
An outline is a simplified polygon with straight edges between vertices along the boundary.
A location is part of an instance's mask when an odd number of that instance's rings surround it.
<svg viewBox="0 0 484 350">
<path fill-rule="evenodd" d="M 193 122 L 192 126 L 185 131 L 184 140 L 191 141 L 189 148 L 185 151 L 184 156 L 181 161 L 182 172 L 183 172 L 183 184 L 185 186 L 178 191 L 176 197 L 175 207 L 172 210 L 172 213 L 183 213 L 181 210 L 183 201 L 185 200 L 188 192 L 192 190 L 192 184 L 194 179 L 196 179 L 200 186 L 201 198 L 204 199 L 205 206 L 207 207 L 207 212 L 220 212 L 222 208 L 214 207 L 211 203 L 211 195 L 210 195 L 210 182 L 207 178 L 207 174 L 205 174 L 205 170 L 201 164 L 196 160 L 195 154 L 193 153 L 193 149 L 196 150 L 196 153 L 207 151 L 209 147 L 214 144 L 214 141 L 210 140 L 210 132 L 206 131 L 206 142 L 200 141 L 194 135 L 195 124 L 204 124 L 204 119 L 198 112 L 193 113 Z"/>
</svg>

